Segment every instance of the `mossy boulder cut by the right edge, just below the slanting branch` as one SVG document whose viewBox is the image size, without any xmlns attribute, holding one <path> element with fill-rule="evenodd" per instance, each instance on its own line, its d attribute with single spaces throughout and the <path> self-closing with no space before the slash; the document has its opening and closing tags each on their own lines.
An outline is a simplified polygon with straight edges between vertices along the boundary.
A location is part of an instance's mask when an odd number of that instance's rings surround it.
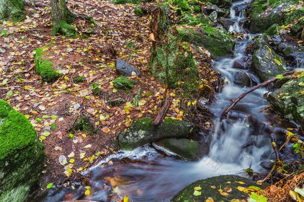
<svg viewBox="0 0 304 202">
<path fill-rule="evenodd" d="M 269 94 L 267 100 L 286 119 L 304 126 L 304 76 L 285 83 Z"/>
</svg>

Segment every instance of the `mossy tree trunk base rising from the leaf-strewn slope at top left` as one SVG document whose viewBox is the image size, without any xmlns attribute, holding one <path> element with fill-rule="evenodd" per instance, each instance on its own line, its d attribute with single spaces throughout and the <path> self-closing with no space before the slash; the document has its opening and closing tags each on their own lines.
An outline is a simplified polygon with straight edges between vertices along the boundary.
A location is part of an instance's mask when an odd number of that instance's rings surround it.
<svg viewBox="0 0 304 202">
<path fill-rule="evenodd" d="M 66 6 L 65 0 L 51 0 L 51 7 L 54 24 L 60 21 L 70 24 L 74 21 L 75 15 Z"/>
</svg>

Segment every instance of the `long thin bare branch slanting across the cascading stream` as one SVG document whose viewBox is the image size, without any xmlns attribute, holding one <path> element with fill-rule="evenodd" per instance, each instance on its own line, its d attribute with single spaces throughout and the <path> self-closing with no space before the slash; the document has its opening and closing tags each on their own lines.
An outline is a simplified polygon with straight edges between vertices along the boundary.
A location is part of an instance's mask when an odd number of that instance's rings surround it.
<svg viewBox="0 0 304 202">
<path fill-rule="evenodd" d="M 287 71 L 283 74 L 283 77 L 286 77 L 286 76 L 289 76 L 289 75 L 292 75 L 295 73 L 295 70 L 291 70 L 291 71 Z M 243 94 L 241 94 L 236 100 L 234 100 L 230 106 L 228 106 L 221 114 L 221 119 L 224 118 L 224 116 L 227 115 L 227 113 L 233 109 L 233 107 L 241 100 L 243 99 L 247 94 L 251 93 L 252 91 L 258 89 L 258 88 L 261 88 L 261 87 L 265 87 L 267 86 L 268 84 L 270 83 L 273 83 L 273 82 L 276 82 L 277 80 L 279 80 L 280 78 L 277 78 L 277 77 L 273 77 L 267 81 L 264 81 L 263 83 L 260 83 L 259 85 L 256 85 L 250 89 L 248 89 L 246 92 L 244 92 Z"/>
</svg>

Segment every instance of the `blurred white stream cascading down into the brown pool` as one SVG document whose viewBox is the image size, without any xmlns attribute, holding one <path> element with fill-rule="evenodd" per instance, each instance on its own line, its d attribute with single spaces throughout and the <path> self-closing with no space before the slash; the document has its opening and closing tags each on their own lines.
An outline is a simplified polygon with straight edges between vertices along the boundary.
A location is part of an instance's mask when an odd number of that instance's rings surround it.
<svg viewBox="0 0 304 202">
<path fill-rule="evenodd" d="M 259 79 L 250 70 L 235 68 L 236 62 L 244 63 L 248 58 L 245 49 L 252 37 L 243 26 L 246 3 L 247 0 L 234 1 L 230 9 L 230 17 L 235 21 L 230 31 L 244 33 L 246 39 L 236 43 L 233 57 L 214 62 L 214 68 L 222 73 L 227 83 L 210 107 L 218 117 L 231 104 L 231 100 L 250 87 L 234 84 L 237 72 L 245 72 L 251 78 L 251 84 L 259 83 Z M 83 187 L 78 190 L 65 188 L 49 193 L 42 201 L 64 201 L 67 194 L 71 193 L 68 195 L 70 200 L 110 202 L 111 199 L 128 195 L 129 199 L 136 202 L 168 202 L 183 187 L 196 180 L 222 174 L 245 176 L 243 169 L 247 168 L 261 172 L 263 168 L 260 162 L 269 159 L 272 153 L 265 125 L 256 124 L 269 122 L 262 112 L 268 104 L 263 98 L 266 92 L 265 88 L 261 88 L 247 95 L 231 111 L 225 123 L 214 118 L 215 130 L 214 134 L 210 134 L 212 141 L 209 154 L 198 162 L 178 160 L 158 153 L 149 146 L 134 151 L 119 151 L 85 173 L 91 187 L 90 196 L 82 194 Z M 251 144 L 243 147 L 248 142 Z M 113 189 L 116 193 L 113 193 Z"/>
</svg>

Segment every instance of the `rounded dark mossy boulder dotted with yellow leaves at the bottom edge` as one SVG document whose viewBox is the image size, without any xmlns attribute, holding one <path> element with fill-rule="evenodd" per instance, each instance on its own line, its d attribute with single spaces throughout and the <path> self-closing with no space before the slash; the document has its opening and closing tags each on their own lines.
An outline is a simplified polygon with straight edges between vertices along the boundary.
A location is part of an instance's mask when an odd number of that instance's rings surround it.
<svg viewBox="0 0 304 202">
<path fill-rule="evenodd" d="M 214 202 L 230 202 L 233 199 L 247 201 L 250 192 L 246 194 L 240 190 L 242 188 L 245 190 L 250 186 L 254 186 L 251 190 L 259 190 L 261 188 L 256 182 L 240 176 L 216 176 L 198 180 L 185 187 L 173 197 L 171 202 L 205 202 L 208 199 Z"/>
</svg>

